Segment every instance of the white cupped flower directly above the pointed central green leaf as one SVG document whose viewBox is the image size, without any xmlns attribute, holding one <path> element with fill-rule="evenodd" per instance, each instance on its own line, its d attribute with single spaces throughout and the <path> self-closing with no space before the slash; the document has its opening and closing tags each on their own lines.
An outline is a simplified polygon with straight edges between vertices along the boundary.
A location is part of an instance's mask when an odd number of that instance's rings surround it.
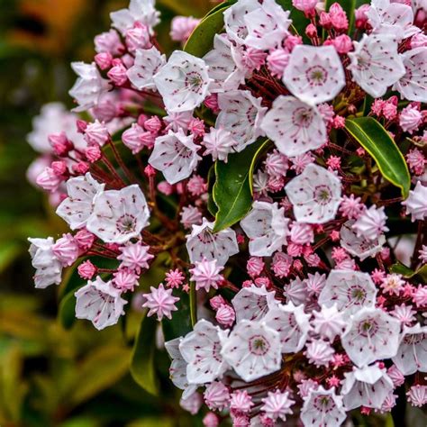
<svg viewBox="0 0 427 427">
<path fill-rule="evenodd" d="M 261 106 L 261 98 L 255 98 L 248 90 L 232 90 L 218 95 L 221 113 L 216 118 L 215 128 L 223 128 L 232 133 L 237 142 L 236 151 L 262 135 L 260 124 L 266 107 Z"/>
</svg>

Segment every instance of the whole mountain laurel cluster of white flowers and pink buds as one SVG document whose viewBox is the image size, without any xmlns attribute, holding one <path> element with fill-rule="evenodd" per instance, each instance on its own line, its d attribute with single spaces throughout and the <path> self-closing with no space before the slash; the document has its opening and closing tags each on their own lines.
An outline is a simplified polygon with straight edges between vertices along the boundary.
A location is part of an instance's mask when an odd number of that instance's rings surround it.
<svg viewBox="0 0 427 427">
<path fill-rule="evenodd" d="M 131 0 L 28 136 L 69 228 L 30 239 L 35 286 L 153 322 L 135 354 L 206 427 L 427 404 L 427 5 L 284 3 L 178 16 L 165 51 Z"/>
</svg>

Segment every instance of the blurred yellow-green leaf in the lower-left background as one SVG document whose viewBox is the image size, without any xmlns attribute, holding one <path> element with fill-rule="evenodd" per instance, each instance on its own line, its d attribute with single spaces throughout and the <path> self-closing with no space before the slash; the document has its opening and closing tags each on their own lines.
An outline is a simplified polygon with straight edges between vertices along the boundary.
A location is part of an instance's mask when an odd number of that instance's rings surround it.
<svg viewBox="0 0 427 427">
<path fill-rule="evenodd" d="M 113 386 L 129 369 L 130 350 L 118 345 L 105 345 L 93 350 L 78 367 L 70 403 L 81 404 Z"/>
</svg>

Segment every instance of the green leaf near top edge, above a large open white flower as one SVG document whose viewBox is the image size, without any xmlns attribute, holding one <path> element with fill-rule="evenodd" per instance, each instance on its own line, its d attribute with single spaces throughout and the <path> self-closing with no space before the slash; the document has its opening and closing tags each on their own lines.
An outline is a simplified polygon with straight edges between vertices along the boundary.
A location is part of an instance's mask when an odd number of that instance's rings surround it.
<svg viewBox="0 0 427 427">
<path fill-rule="evenodd" d="M 195 57 L 202 58 L 213 48 L 213 38 L 215 34 L 223 32 L 224 10 L 225 8 L 222 8 L 213 14 L 208 14 L 202 22 L 195 27 L 195 30 L 186 41 L 184 51 Z"/>
</svg>

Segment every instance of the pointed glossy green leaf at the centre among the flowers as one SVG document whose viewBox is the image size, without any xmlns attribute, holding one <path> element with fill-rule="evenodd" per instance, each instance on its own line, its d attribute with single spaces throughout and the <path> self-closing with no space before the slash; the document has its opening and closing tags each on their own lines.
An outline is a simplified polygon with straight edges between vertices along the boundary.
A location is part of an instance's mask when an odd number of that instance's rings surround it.
<svg viewBox="0 0 427 427">
<path fill-rule="evenodd" d="M 238 223 L 252 205 L 252 178 L 257 159 L 269 141 L 259 140 L 240 153 L 231 154 L 228 162 L 215 163 L 216 182 L 213 200 L 218 206 L 213 232 Z"/>
</svg>

